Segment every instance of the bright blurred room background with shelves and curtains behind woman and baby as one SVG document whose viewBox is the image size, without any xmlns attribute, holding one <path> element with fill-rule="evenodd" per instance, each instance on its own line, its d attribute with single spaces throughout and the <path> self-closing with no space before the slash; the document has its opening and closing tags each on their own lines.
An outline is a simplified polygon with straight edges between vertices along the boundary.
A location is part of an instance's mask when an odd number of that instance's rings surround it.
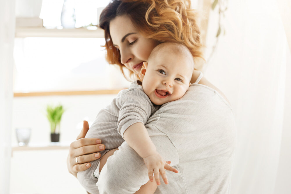
<svg viewBox="0 0 291 194">
<path fill-rule="evenodd" d="M 0 193 L 86 193 L 68 173 L 69 145 L 130 84 L 101 47 L 108 2 L 0 1 Z M 291 3 L 191 2 L 206 45 L 196 67 L 236 116 L 231 193 L 291 193 Z M 59 122 L 48 105 L 62 105 Z"/>
</svg>

